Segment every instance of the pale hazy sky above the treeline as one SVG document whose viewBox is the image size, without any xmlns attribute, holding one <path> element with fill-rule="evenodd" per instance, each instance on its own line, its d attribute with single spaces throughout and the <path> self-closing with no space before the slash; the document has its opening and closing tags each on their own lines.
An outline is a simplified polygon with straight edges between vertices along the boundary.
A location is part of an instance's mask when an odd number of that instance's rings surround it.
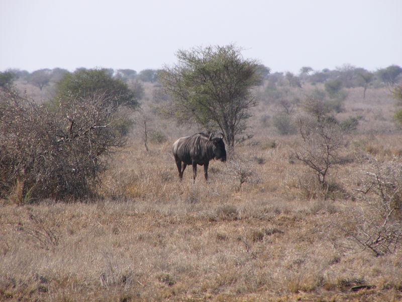
<svg viewBox="0 0 402 302">
<path fill-rule="evenodd" d="M 0 70 L 158 69 L 235 43 L 273 71 L 402 66 L 402 0 L 0 0 Z"/>
</svg>

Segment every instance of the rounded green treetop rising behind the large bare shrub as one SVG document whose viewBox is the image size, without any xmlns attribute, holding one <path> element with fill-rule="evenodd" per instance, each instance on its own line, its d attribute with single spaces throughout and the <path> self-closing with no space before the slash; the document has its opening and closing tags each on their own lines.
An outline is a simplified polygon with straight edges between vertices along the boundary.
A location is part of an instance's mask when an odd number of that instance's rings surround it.
<svg viewBox="0 0 402 302">
<path fill-rule="evenodd" d="M 56 84 L 56 102 L 71 97 L 86 99 L 94 95 L 103 95 L 115 105 L 138 107 L 138 92 L 130 90 L 122 80 L 112 78 L 108 69 L 77 69 L 65 74 Z"/>
</svg>

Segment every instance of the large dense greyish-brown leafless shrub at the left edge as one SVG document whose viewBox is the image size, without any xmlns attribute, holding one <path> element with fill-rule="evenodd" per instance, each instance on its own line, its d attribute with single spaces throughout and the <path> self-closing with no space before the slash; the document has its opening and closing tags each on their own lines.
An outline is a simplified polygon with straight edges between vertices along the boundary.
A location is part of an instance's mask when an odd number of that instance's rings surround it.
<svg viewBox="0 0 402 302">
<path fill-rule="evenodd" d="M 117 114 L 116 102 L 104 95 L 39 106 L 16 91 L 2 90 L 0 196 L 13 188 L 21 191 L 19 203 L 90 194 L 106 168 L 105 156 L 125 142 Z"/>
</svg>

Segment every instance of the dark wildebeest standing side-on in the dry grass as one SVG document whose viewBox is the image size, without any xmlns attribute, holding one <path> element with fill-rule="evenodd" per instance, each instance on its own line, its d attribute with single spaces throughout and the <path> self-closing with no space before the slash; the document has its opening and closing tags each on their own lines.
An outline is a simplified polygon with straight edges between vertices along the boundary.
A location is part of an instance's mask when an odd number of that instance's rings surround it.
<svg viewBox="0 0 402 302">
<path fill-rule="evenodd" d="M 173 156 L 179 172 L 180 180 L 187 165 L 192 165 L 193 178 L 197 177 L 197 165 L 204 166 L 204 176 L 208 180 L 208 165 L 212 159 L 226 161 L 226 149 L 221 137 L 212 137 L 205 133 L 180 137 L 173 143 Z"/>
</svg>

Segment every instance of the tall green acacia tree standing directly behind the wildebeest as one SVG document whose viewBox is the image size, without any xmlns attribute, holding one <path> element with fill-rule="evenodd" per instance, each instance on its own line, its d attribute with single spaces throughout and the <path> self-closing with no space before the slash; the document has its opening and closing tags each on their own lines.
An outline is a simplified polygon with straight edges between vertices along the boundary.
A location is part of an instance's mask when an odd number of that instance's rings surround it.
<svg viewBox="0 0 402 302">
<path fill-rule="evenodd" d="M 233 44 L 179 50 L 178 63 L 159 74 L 177 120 L 220 129 L 229 154 L 236 135 L 247 128 L 250 108 L 257 105 L 251 88 L 262 78 L 258 62 L 244 59 L 240 51 Z"/>
</svg>

